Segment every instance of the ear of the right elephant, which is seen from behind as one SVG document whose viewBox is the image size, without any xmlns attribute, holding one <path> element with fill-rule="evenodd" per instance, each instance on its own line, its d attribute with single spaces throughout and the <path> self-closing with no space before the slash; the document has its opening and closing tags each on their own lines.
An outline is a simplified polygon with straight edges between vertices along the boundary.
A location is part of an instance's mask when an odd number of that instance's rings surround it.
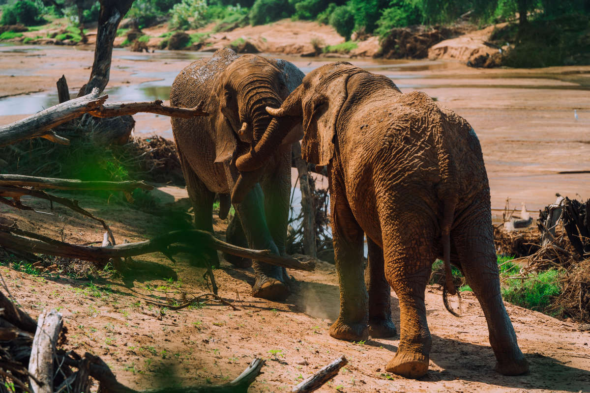
<svg viewBox="0 0 590 393">
<path fill-rule="evenodd" d="M 304 99 L 301 157 L 309 163 L 325 166 L 334 156 L 336 121 L 348 93 L 349 74 L 330 75 L 320 82 L 309 99 Z M 307 98 L 307 97 L 306 97 Z"/>
</svg>

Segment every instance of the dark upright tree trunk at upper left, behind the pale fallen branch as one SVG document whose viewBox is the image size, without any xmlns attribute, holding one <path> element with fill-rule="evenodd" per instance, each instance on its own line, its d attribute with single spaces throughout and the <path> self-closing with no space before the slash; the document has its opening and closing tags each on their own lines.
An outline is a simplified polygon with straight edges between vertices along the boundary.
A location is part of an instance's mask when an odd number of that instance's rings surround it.
<svg viewBox="0 0 590 393">
<path fill-rule="evenodd" d="M 99 29 L 96 32 L 94 63 L 89 81 L 82 86 L 78 97 L 89 94 L 97 87 L 103 91 L 110 77 L 110 64 L 113 57 L 113 42 L 123 16 L 127 14 L 133 0 L 100 0 Z"/>
</svg>

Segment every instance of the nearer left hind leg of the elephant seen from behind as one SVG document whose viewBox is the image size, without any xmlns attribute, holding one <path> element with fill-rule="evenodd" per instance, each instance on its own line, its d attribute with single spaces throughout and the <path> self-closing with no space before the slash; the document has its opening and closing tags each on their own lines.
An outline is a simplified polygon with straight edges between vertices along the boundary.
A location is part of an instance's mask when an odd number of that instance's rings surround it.
<svg viewBox="0 0 590 393">
<path fill-rule="evenodd" d="M 391 217 L 391 215 L 390 215 Z M 424 292 L 435 255 L 434 225 L 415 214 L 398 214 L 383 225 L 385 277 L 399 299 L 400 341 L 388 372 L 419 378 L 428 371 L 432 339 L 426 321 Z"/>
</svg>

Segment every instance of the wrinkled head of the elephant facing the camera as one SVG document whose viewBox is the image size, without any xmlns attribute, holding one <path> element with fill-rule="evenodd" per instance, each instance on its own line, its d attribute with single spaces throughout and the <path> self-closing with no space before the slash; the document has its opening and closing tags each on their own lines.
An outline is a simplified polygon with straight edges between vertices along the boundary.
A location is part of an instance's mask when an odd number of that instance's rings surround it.
<svg viewBox="0 0 590 393">
<path fill-rule="evenodd" d="M 215 162 L 222 163 L 235 160 L 240 152 L 260 144 L 265 134 L 274 134 L 281 130 L 286 136 L 296 124 L 294 121 L 273 121 L 266 107 L 278 107 L 293 90 L 293 81 L 289 80 L 289 67 L 282 60 L 270 60 L 257 55 L 242 55 L 236 58 L 219 75 L 214 94 L 218 102 L 215 133 Z M 299 71 L 299 70 L 297 70 Z M 291 71 L 291 73 L 294 71 Z M 293 79 L 296 80 L 296 75 Z M 294 130 L 294 138 L 281 138 L 280 144 L 293 143 L 300 132 Z M 278 145 L 276 146 L 278 147 Z M 265 150 L 266 151 L 266 150 Z M 268 151 L 266 157 L 273 156 L 277 149 Z M 262 167 L 262 166 L 261 166 Z M 258 171 L 241 174 L 234 190 L 249 190 L 263 173 Z M 232 193 L 232 203 L 240 203 L 244 194 Z"/>
</svg>

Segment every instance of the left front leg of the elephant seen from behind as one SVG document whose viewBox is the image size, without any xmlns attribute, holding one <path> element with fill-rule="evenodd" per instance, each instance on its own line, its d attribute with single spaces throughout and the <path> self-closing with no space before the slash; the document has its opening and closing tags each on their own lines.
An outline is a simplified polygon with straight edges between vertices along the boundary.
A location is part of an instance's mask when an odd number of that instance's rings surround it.
<svg viewBox="0 0 590 393">
<path fill-rule="evenodd" d="M 363 232 L 343 194 L 332 184 L 330 204 L 336 272 L 340 284 L 340 315 L 330 328 L 330 336 L 348 341 L 364 340 L 368 338 L 368 295 L 363 279 Z"/>
</svg>

